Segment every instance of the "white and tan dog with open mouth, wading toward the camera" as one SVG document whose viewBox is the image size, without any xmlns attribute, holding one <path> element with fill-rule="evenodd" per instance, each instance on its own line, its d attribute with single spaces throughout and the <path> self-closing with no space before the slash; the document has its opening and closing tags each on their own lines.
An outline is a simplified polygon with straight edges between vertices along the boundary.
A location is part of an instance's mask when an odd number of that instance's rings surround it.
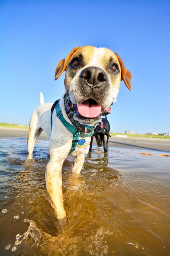
<svg viewBox="0 0 170 256">
<path fill-rule="evenodd" d="M 102 108 L 108 108 L 116 101 L 120 82 L 131 91 L 131 73 L 125 69 L 120 57 L 106 48 L 84 46 L 74 48 L 60 60 L 55 71 L 55 80 L 64 72 L 66 93 L 77 106 L 74 120 L 83 125 L 93 126 L 100 122 Z M 41 100 L 41 103 L 43 100 Z M 62 176 L 63 162 L 72 147 L 73 134 L 67 130 L 53 112 L 51 130 L 50 116 L 52 103 L 41 104 L 32 114 L 28 133 L 28 158 L 32 159 L 35 141 L 44 131 L 50 139 L 50 161 L 46 167 L 46 188 L 51 197 L 61 229 L 66 228 L 67 218 L 63 207 Z M 72 124 L 66 114 L 63 97 L 60 109 L 64 119 Z M 90 137 L 86 138 L 90 144 Z M 74 163 L 72 172 L 79 174 L 84 163 L 85 154 L 73 151 Z"/>
</svg>

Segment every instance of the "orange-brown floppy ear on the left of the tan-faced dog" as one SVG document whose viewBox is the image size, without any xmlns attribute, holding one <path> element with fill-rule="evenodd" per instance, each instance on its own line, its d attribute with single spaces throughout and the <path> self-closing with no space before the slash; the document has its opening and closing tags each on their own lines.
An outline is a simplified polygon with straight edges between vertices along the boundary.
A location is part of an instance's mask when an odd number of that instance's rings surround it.
<svg viewBox="0 0 170 256">
<path fill-rule="evenodd" d="M 78 49 L 80 49 L 81 47 L 76 47 L 74 48 L 66 57 L 66 59 L 60 60 L 57 63 L 57 67 L 55 70 L 55 80 L 57 80 L 57 78 L 59 78 L 59 76 L 61 76 L 61 74 L 66 70 L 67 64 L 69 62 L 69 59 L 71 58 L 71 56 L 74 54 L 74 52 L 76 52 Z"/>
</svg>

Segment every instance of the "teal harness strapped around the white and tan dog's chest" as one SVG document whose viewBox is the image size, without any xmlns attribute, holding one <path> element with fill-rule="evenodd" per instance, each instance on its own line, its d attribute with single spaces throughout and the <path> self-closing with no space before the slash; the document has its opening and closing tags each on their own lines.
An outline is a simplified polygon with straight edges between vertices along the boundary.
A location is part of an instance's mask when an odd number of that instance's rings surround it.
<svg viewBox="0 0 170 256">
<path fill-rule="evenodd" d="M 71 146 L 71 150 L 69 152 L 69 153 L 72 153 L 75 150 L 77 142 L 80 140 L 80 137 L 81 138 L 82 137 L 83 138 L 91 137 L 94 133 L 94 129 L 95 129 L 96 125 L 89 126 L 89 125 L 81 124 L 81 126 L 83 126 L 85 132 L 80 132 L 76 127 L 74 127 L 72 124 L 69 124 L 66 121 L 66 119 L 64 119 L 64 116 L 60 109 L 60 100 L 56 100 L 53 104 L 53 107 L 51 108 L 51 130 L 52 130 L 52 126 L 53 126 L 53 110 L 54 110 L 54 108 L 56 111 L 56 116 L 60 119 L 61 123 L 64 124 L 64 126 L 67 128 L 67 130 L 73 134 L 72 146 Z"/>
</svg>

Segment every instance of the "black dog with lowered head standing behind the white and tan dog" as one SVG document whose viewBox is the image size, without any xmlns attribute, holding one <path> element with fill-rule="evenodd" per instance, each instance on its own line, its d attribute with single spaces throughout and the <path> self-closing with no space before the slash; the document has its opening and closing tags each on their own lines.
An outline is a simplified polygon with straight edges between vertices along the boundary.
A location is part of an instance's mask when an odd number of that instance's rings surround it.
<svg viewBox="0 0 170 256">
<path fill-rule="evenodd" d="M 110 132 L 110 124 L 106 118 L 102 118 L 102 121 L 95 128 L 93 136 L 95 136 L 95 138 L 96 138 L 98 147 L 102 147 L 102 145 L 103 145 L 104 152 L 108 152 L 108 149 L 109 149 L 108 143 L 109 143 L 109 137 L 111 137 L 109 135 L 109 132 Z M 107 142 L 105 142 L 105 140 L 104 140 L 104 135 L 107 136 Z M 89 151 L 91 151 L 91 148 L 92 148 L 93 136 L 91 137 Z"/>
</svg>

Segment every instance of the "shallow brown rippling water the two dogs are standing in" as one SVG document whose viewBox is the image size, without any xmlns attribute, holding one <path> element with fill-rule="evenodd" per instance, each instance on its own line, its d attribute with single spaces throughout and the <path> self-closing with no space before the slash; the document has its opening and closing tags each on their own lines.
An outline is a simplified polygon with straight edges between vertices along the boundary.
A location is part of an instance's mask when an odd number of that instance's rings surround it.
<svg viewBox="0 0 170 256">
<path fill-rule="evenodd" d="M 48 141 L 29 162 L 24 138 L 0 142 L 0 255 L 170 254 L 170 157 L 159 156 L 167 152 L 95 149 L 79 176 L 65 160 L 63 236 L 46 191 Z"/>
</svg>

